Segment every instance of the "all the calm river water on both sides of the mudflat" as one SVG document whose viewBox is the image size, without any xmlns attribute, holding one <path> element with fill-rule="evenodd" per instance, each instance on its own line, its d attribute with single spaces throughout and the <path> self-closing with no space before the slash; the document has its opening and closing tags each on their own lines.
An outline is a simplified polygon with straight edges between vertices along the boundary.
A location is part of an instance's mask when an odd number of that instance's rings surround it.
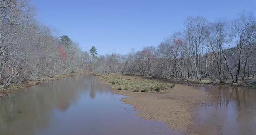
<svg viewBox="0 0 256 135">
<path fill-rule="evenodd" d="M 91 75 L 53 80 L 0 98 L 0 135 L 255 135 L 256 90 L 191 85 L 210 99 L 193 125 L 173 131 L 134 116 L 122 95 Z"/>
</svg>

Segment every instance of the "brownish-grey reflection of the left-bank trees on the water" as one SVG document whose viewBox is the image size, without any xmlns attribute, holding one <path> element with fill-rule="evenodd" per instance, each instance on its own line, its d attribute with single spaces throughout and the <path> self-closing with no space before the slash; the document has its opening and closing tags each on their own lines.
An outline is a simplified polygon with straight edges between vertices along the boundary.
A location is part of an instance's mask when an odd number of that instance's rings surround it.
<svg viewBox="0 0 256 135">
<path fill-rule="evenodd" d="M 65 111 L 79 96 L 110 92 L 90 75 L 54 80 L 0 99 L 0 135 L 33 135 L 34 128 L 46 128 L 53 109 Z M 15 130 L 13 130 L 15 129 Z"/>
</svg>

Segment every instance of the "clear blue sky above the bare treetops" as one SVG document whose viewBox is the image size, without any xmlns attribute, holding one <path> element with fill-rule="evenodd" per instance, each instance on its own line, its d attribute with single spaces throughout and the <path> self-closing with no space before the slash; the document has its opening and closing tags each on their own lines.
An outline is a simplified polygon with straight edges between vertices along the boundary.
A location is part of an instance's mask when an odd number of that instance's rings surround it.
<svg viewBox="0 0 256 135">
<path fill-rule="evenodd" d="M 31 0 L 37 18 L 99 55 L 157 46 L 190 16 L 209 21 L 256 14 L 256 0 Z"/>
</svg>

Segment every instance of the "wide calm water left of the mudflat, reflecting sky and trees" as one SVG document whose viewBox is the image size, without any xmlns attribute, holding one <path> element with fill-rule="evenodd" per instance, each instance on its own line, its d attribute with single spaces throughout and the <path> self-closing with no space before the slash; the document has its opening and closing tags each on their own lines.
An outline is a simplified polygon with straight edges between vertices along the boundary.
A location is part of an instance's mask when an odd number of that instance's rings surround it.
<svg viewBox="0 0 256 135">
<path fill-rule="evenodd" d="M 0 135 L 170 135 L 134 116 L 122 95 L 90 75 L 53 80 L 0 99 Z"/>
</svg>

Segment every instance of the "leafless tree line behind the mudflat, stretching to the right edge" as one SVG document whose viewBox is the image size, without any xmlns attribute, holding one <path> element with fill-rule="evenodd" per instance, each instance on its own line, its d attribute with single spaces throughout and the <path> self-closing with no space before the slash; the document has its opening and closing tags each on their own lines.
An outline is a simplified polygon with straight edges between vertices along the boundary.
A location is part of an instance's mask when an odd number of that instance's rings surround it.
<svg viewBox="0 0 256 135">
<path fill-rule="evenodd" d="M 202 16 L 189 17 L 181 31 L 156 47 L 99 56 L 93 71 L 238 83 L 256 78 L 255 44 L 253 14 L 243 12 L 236 19 L 215 22 Z"/>
</svg>

